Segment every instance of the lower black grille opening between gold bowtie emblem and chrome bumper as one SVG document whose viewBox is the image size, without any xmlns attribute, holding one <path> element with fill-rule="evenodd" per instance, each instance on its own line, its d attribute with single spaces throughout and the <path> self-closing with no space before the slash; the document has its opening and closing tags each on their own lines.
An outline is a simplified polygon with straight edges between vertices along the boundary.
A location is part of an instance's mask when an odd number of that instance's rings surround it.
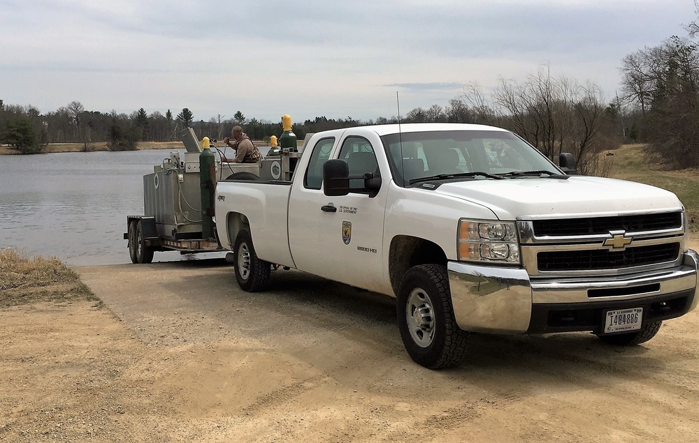
<svg viewBox="0 0 699 443">
<path fill-rule="evenodd" d="M 622 269 L 672 262 L 679 257 L 679 243 L 607 249 L 543 251 L 537 254 L 539 271 L 589 271 Z"/>
</svg>

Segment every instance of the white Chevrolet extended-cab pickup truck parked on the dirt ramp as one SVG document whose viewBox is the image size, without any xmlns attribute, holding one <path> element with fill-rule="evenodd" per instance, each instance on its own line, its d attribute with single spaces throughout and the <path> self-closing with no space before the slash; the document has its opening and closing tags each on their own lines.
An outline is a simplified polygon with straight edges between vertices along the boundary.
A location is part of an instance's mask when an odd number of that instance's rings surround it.
<svg viewBox="0 0 699 443">
<path fill-rule="evenodd" d="M 643 343 L 699 301 L 674 194 L 566 174 L 570 154 L 559 168 L 507 130 L 329 130 L 298 155 L 290 180 L 217 183 L 238 284 L 262 290 L 283 266 L 396 296 L 405 348 L 427 368 L 458 363 L 471 332 Z"/>
</svg>

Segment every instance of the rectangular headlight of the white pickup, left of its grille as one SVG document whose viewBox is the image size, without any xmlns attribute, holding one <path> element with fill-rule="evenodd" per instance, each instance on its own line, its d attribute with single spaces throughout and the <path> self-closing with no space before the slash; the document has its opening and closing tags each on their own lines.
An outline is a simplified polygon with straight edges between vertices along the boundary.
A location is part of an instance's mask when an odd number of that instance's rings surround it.
<svg viewBox="0 0 699 443">
<path fill-rule="evenodd" d="M 459 260 L 519 264 L 517 227 L 512 222 L 459 220 Z"/>
</svg>

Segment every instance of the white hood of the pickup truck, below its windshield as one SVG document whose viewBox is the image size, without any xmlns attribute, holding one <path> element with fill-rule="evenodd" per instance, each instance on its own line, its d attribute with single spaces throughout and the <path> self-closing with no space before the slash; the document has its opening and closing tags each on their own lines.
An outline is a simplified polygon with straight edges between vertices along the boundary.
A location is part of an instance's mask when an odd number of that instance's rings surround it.
<svg viewBox="0 0 699 443">
<path fill-rule="evenodd" d="M 442 183 L 432 192 L 488 207 L 500 220 L 531 216 L 672 211 L 682 202 L 668 190 L 617 179 L 470 180 Z"/>
</svg>

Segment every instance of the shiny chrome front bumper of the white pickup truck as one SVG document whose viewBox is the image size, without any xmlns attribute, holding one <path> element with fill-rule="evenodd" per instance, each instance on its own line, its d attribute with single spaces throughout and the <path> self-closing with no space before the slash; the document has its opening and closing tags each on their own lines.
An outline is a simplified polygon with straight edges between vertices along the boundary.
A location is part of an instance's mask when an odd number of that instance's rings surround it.
<svg viewBox="0 0 699 443">
<path fill-rule="evenodd" d="M 531 322 L 533 310 L 544 306 L 556 306 L 561 310 L 567 306 L 584 309 L 590 305 L 603 309 L 626 306 L 629 301 L 643 303 L 646 299 L 663 299 L 665 295 L 686 297 L 690 294 L 689 306 L 684 306 L 679 313 L 682 315 L 695 309 L 699 303 L 698 267 L 699 255 L 690 249 L 684 254 L 680 266 L 652 274 L 544 280 L 531 279 L 524 269 L 463 262 L 449 262 L 447 271 L 454 316 L 461 329 L 526 333 L 542 330 Z"/>
</svg>

